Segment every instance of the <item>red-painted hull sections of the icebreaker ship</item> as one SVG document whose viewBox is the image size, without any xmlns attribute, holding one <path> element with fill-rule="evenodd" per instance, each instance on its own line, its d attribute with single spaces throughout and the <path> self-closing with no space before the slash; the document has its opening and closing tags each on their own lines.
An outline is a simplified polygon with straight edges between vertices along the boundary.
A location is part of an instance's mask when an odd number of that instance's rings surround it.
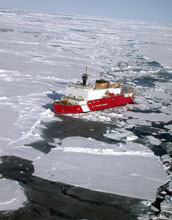
<svg viewBox="0 0 172 220">
<path fill-rule="evenodd" d="M 134 99 L 132 97 L 125 97 L 123 94 L 112 97 L 105 97 L 102 99 L 95 99 L 87 101 L 87 106 L 89 111 L 97 111 L 106 108 L 112 108 L 120 105 L 126 105 L 133 103 Z M 88 111 L 83 111 L 80 105 L 62 105 L 53 103 L 55 113 L 83 113 Z"/>
</svg>

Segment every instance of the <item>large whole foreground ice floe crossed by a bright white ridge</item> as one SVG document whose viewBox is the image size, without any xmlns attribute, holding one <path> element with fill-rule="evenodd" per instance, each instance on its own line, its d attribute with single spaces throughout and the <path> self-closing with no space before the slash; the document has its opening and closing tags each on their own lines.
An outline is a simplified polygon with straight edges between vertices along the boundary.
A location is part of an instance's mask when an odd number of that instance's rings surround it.
<svg viewBox="0 0 172 220">
<path fill-rule="evenodd" d="M 111 145 L 81 137 L 64 139 L 34 161 L 34 168 L 34 175 L 41 178 L 151 201 L 158 186 L 168 181 L 156 156 L 144 145 Z"/>
</svg>

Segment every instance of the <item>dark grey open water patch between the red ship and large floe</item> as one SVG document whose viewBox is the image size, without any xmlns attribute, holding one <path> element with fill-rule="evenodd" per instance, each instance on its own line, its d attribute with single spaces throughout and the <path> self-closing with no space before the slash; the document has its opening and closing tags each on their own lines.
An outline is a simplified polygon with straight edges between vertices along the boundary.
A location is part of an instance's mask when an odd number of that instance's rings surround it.
<svg viewBox="0 0 172 220">
<path fill-rule="evenodd" d="M 91 137 L 95 140 L 112 143 L 113 140 L 104 137 L 107 129 L 117 126 L 98 121 L 87 121 L 69 116 L 58 116 L 62 121 L 44 123 L 46 129 L 42 131 L 42 137 L 48 141 L 54 138 L 64 139 L 66 137 L 80 136 Z"/>
</svg>

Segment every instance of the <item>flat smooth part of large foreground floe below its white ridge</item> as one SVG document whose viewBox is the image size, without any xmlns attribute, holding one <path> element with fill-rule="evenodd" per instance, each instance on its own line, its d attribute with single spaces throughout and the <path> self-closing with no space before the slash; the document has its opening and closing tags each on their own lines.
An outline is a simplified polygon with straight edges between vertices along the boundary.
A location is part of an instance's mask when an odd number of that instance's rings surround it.
<svg viewBox="0 0 172 220">
<path fill-rule="evenodd" d="M 114 156 L 53 149 L 33 164 L 34 175 L 41 178 L 152 202 L 157 188 L 168 181 L 150 154 Z"/>
</svg>

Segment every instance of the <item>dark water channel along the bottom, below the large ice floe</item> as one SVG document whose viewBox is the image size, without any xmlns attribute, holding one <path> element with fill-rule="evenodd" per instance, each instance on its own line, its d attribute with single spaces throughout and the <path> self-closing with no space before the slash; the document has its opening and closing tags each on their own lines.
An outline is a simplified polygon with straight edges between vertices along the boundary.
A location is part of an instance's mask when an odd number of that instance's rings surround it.
<svg viewBox="0 0 172 220">
<path fill-rule="evenodd" d="M 0 171 L 17 180 L 25 189 L 25 208 L 1 215 L 1 219 L 136 219 L 141 209 L 138 199 L 97 193 L 32 175 L 31 161 L 14 156 L 2 157 Z M 19 164 L 22 164 L 22 166 Z M 22 171 L 22 174 L 21 174 Z M 140 211 L 140 210 L 139 210 Z M 1 213 L 3 214 L 3 213 Z"/>
</svg>

